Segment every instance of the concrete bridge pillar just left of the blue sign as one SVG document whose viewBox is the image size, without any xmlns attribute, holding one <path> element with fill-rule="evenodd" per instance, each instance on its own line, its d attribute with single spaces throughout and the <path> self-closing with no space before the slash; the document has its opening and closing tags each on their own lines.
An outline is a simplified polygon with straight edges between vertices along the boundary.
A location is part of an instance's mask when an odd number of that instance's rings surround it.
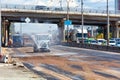
<svg viewBox="0 0 120 80">
<path fill-rule="evenodd" d="M 58 29 L 59 29 L 60 41 L 65 41 L 65 28 L 64 28 L 64 20 L 63 19 L 58 23 Z"/>
</svg>

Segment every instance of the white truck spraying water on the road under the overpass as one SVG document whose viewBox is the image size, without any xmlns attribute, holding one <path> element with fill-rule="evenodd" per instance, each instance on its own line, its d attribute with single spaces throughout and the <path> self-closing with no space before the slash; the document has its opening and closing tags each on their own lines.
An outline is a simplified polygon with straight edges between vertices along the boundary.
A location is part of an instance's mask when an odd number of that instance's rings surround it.
<svg viewBox="0 0 120 80">
<path fill-rule="evenodd" d="M 50 52 L 50 34 L 34 34 L 32 35 L 32 39 L 34 41 L 33 51 L 47 51 Z"/>
</svg>

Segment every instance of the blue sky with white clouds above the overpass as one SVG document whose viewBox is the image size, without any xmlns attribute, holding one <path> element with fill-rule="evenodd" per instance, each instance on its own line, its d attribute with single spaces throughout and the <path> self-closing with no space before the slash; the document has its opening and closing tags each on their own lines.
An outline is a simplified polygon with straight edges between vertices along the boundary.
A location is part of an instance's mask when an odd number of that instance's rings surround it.
<svg viewBox="0 0 120 80">
<path fill-rule="evenodd" d="M 62 6 L 66 6 L 67 0 L 2 0 L 3 4 L 24 4 L 24 5 L 46 5 L 46 6 L 60 6 L 60 1 L 62 2 Z M 106 1 L 107 0 L 83 0 L 84 8 L 89 9 L 105 9 L 106 8 Z M 114 1 L 115 0 L 108 0 L 109 1 L 109 9 L 114 10 Z M 56 4 L 56 5 L 54 5 Z M 81 0 L 69 0 L 69 4 L 72 7 L 80 7 Z"/>
</svg>

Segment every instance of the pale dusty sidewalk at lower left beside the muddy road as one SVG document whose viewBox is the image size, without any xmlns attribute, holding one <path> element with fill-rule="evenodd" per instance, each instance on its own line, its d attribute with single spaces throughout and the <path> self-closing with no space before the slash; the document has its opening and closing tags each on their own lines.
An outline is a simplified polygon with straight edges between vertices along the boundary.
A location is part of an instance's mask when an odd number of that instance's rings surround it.
<svg viewBox="0 0 120 80">
<path fill-rule="evenodd" d="M 6 53 L 6 49 L 2 48 L 3 55 Z M 16 65 L 0 63 L 0 80 L 45 80 L 44 78 L 34 74 L 22 63 L 17 62 Z"/>
</svg>

